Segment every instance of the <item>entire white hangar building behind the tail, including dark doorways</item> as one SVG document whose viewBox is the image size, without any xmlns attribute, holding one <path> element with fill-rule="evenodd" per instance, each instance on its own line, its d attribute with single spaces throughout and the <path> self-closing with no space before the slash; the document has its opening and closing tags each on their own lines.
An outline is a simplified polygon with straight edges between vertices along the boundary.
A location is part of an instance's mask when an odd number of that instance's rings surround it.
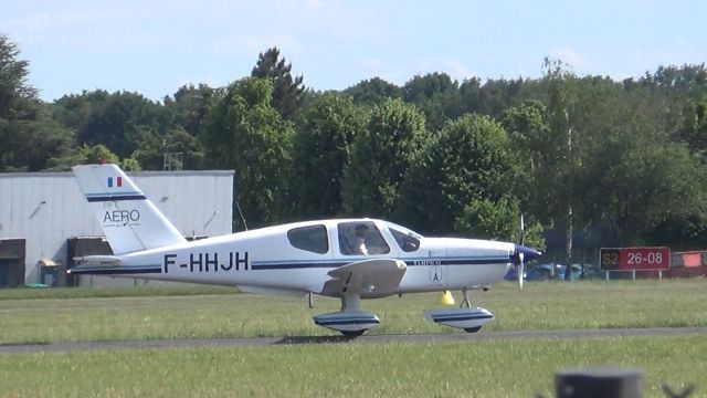
<svg viewBox="0 0 707 398">
<path fill-rule="evenodd" d="M 231 233 L 233 174 L 128 172 L 188 239 Z M 74 256 L 110 253 L 102 237 L 72 172 L 0 174 L 0 287 L 134 283 L 107 276 L 67 280 Z"/>
</svg>

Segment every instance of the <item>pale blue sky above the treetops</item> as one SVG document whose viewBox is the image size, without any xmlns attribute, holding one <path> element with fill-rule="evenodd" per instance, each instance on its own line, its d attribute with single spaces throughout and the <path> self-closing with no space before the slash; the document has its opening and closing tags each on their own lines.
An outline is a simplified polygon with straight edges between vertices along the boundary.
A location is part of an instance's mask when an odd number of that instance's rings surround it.
<svg viewBox="0 0 707 398">
<path fill-rule="evenodd" d="M 578 74 L 637 77 L 707 61 L 707 1 L 2 0 L 0 34 L 44 101 L 103 88 L 159 101 L 223 86 L 277 46 L 317 91 L 414 75 L 537 77 L 546 56 Z"/>
</svg>

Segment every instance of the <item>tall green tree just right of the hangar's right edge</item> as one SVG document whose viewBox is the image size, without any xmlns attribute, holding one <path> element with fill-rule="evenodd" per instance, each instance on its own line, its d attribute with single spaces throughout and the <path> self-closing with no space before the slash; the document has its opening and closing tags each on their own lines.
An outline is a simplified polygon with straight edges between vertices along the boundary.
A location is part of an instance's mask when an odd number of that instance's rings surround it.
<svg viewBox="0 0 707 398">
<path fill-rule="evenodd" d="M 247 227 L 276 223 L 291 207 L 286 170 L 292 167 L 294 129 L 273 108 L 272 94 L 270 80 L 232 83 L 199 134 L 205 166 L 235 170 L 236 205 Z"/>
</svg>

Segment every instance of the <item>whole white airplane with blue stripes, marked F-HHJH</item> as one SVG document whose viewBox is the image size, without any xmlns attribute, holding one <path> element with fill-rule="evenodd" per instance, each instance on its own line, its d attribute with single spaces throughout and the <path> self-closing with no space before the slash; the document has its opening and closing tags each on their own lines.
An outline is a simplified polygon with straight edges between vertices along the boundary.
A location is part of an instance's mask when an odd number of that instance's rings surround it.
<svg viewBox="0 0 707 398">
<path fill-rule="evenodd" d="M 72 274 L 238 286 L 247 293 L 319 294 L 341 311 L 314 322 L 359 336 L 378 325 L 361 298 L 461 290 L 458 308 L 426 310 L 435 324 L 477 332 L 493 314 L 472 307 L 469 289 L 503 280 L 541 253 L 520 244 L 425 238 L 392 222 L 337 219 L 288 223 L 188 242 L 116 165 L 73 168 L 113 255 L 76 258 Z M 523 279 L 519 281 L 523 286 Z"/>
</svg>

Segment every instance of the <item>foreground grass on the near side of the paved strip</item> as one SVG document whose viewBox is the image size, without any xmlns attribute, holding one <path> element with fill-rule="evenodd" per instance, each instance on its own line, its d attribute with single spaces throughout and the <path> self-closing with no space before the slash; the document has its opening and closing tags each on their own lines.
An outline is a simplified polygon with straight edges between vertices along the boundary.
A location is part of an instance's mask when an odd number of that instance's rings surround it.
<svg viewBox="0 0 707 398">
<path fill-rule="evenodd" d="M 13 354 L 0 396 L 553 397 L 555 371 L 611 364 L 645 369 L 645 397 L 704 397 L 706 353 L 698 336 Z"/>
</svg>

